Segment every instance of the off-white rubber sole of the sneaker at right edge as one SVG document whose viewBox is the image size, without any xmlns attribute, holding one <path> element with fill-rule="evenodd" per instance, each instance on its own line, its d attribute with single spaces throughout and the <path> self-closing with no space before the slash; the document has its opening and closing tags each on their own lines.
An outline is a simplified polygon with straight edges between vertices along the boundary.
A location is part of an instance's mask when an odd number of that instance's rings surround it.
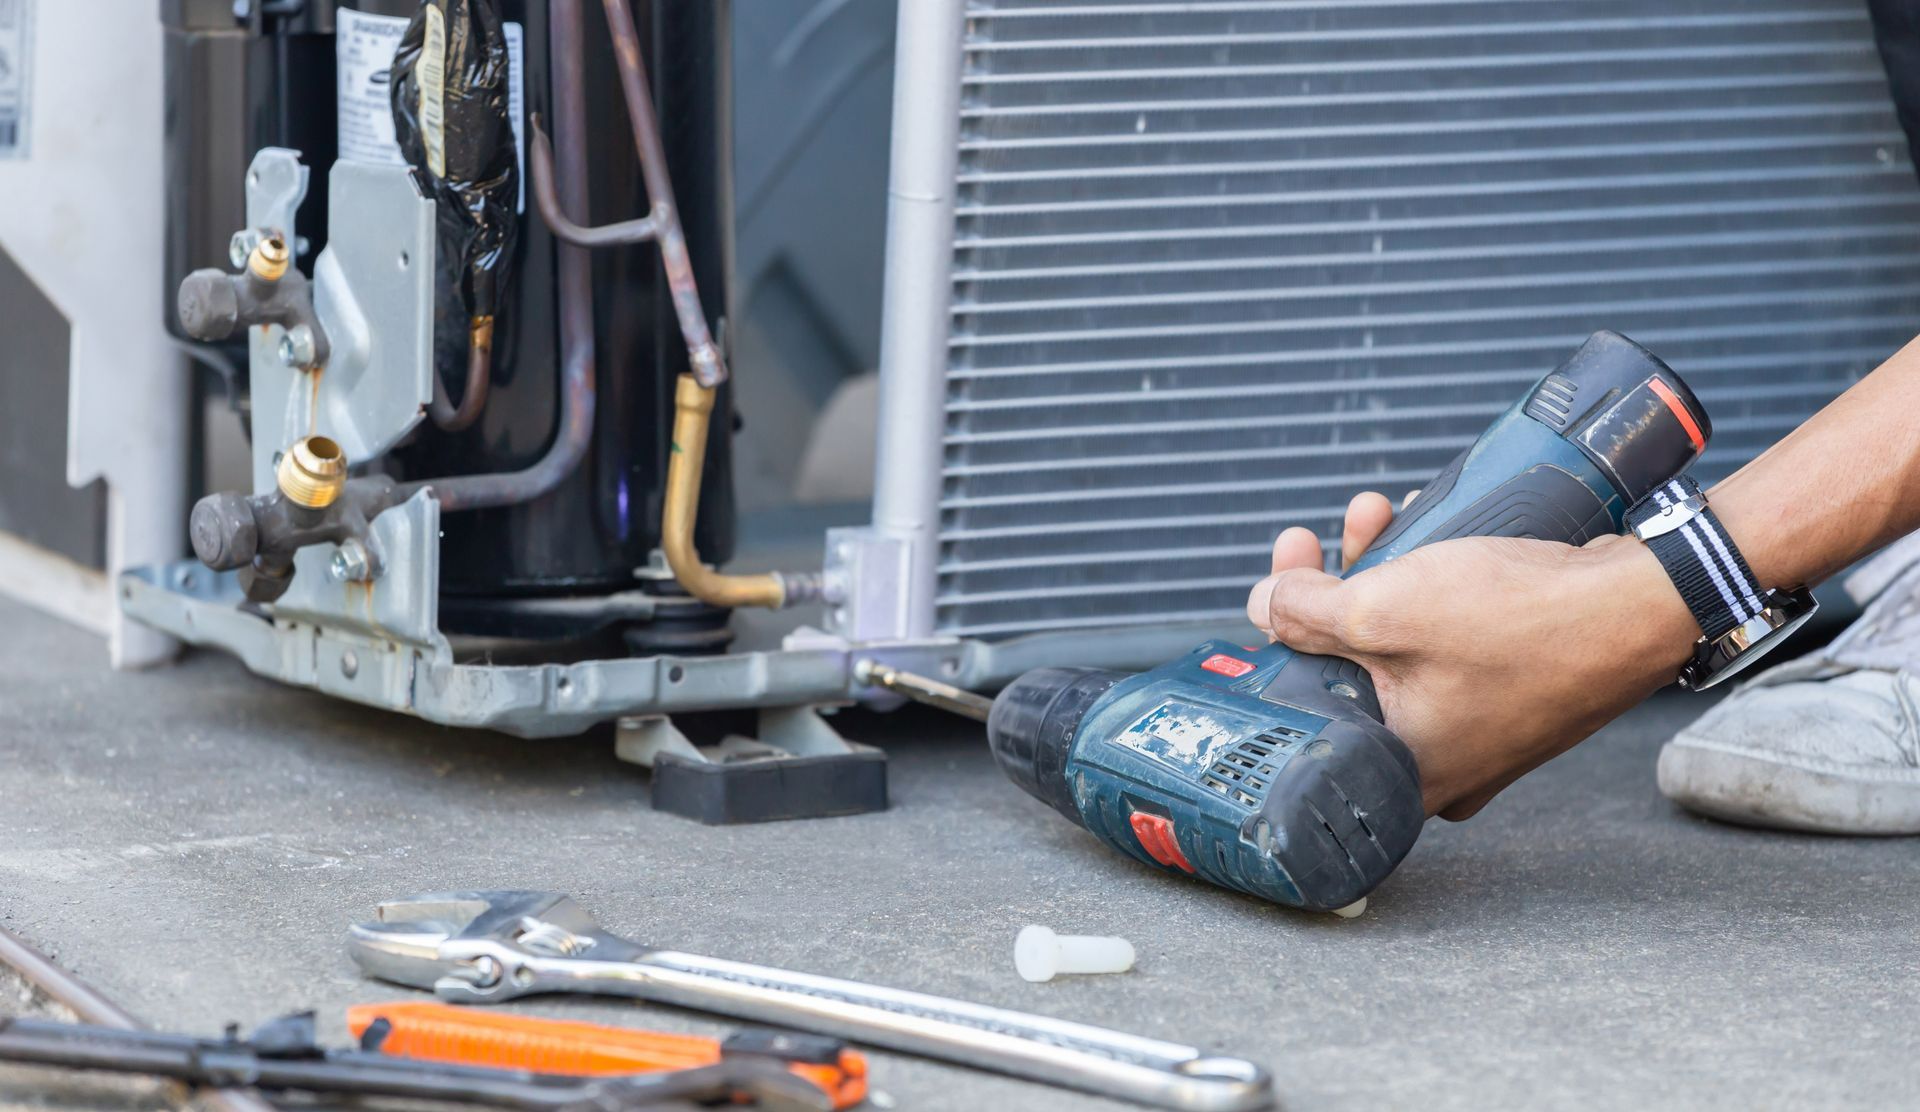
<svg viewBox="0 0 1920 1112">
<path fill-rule="evenodd" d="M 1812 834 L 1920 834 L 1920 770 L 1862 776 L 1841 764 L 1786 762 L 1682 734 L 1661 749 L 1661 793 L 1741 826 Z"/>
</svg>

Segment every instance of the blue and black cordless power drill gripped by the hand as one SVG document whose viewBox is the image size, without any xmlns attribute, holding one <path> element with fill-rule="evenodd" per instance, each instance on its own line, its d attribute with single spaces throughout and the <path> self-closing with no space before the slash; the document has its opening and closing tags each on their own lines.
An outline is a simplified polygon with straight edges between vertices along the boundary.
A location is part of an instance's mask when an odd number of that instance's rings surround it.
<svg viewBox="0 0 1920 1112">
<path fill-rule="evenodd" d="M 1651 351 L 1596 332 L 1428 482 L 1348 570 L 1427 542 L 1584 544 L 1707 446 Z M 1119 853 L 1275 903 L 1338 910 L 1413 849 L 1427 810 L 1365 668 L 1208 641 L 1150 672 L 1039 668 L 993 701 L 1000 768 Z"/>
</svg>

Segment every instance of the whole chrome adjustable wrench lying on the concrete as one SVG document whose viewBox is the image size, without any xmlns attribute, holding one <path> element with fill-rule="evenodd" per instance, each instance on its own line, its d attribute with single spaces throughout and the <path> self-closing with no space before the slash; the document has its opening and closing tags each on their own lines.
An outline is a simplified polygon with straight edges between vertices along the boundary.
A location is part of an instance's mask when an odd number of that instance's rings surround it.
<svg viewBox="0 0 1920 1112">
<path fill-rule="evenodd" d="M 463 1004 L 534 993 L 636 997 L 1190 1112 L 1252 1112 L 1273 1079 L 1244 1058 L 968 1004 L 705 958 L 607 933 L 572 899 L 461 891 L 382 903 L 348 953 L 384 981 Z"/>
</svg>

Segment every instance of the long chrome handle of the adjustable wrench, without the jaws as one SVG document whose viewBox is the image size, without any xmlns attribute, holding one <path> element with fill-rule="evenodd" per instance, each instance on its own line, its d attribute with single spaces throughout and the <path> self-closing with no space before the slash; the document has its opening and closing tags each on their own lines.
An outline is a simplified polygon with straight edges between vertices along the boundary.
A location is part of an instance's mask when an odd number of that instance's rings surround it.
<svg viewBox="0 0 1920 1112">
<path fill-rule="evenodd" d="M 595 941 L 595 956 L 549 956 L 495 939 L 449 939 L 440 956 L 463 972 L 434 991 L 455 1003 L 534 993 L 634 997 L 1187 1112 L 1252 1112 L 1273 1102 L 1273 1077 L 1244 1058 L 904 989 L 643 951 L 609 935 Z"/>
</svg>

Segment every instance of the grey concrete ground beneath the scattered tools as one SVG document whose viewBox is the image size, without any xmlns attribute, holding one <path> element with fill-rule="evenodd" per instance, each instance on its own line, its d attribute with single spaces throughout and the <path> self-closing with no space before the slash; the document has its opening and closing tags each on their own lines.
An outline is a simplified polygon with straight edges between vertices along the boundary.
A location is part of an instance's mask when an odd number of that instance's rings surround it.
<svg viewBox="0 0 1920 1112">
<path fill-rule="evenodd" d="M 346 926 L 420 889 L 574 893 L 636 939 L 1252 1056 L 1286 1108 L 1887 1108 L 1920 1099 L 1912 841 L 1759 834 L 1653 787 L 1701 709 L 1661 697 L 1432 824 L 1365 916 L 1306 916 L 1116 858 L 993 770 L 977 732 L 845 714 L 885 814 L 701 828 L 647 809 L 609 734 L 522 741 L 282 689 L 219 655 L 111 674 L 0 603 L 0 922 L 156 1026 L 217 1031 L 407 995 Z M 1029 985 L 1021 924 L 1121 933 L 1139 968 Z M 0 1010 L 21 1004 L 0 993 Z M 674 1029 L 689 1012 L 528 1012 Z M 1121 1108 L 876 1054 L 897 1108 Z M 92 1106 L 0 1072 L 0 1102 Z M 94 1100 L 88 1097 L 98 1097 Z"/>
</svg>

